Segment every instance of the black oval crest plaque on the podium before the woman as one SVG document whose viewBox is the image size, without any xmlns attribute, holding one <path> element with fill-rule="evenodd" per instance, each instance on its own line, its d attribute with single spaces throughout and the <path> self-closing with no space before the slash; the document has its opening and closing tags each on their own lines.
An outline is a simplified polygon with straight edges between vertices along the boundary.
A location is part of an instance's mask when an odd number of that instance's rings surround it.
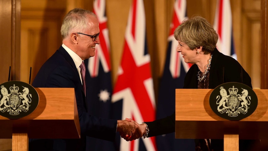
<svg viewBox="0 0 268 151">
<path fill-rule="evenodd" d="M 228 90 L 228 92 L 226 91 Z M 241 120 L 251 115 L 258 104 L 252 88 L 243 83 L 224 83 L 210 94 L 210 107 L 220 117 Z"/>
</svg>

